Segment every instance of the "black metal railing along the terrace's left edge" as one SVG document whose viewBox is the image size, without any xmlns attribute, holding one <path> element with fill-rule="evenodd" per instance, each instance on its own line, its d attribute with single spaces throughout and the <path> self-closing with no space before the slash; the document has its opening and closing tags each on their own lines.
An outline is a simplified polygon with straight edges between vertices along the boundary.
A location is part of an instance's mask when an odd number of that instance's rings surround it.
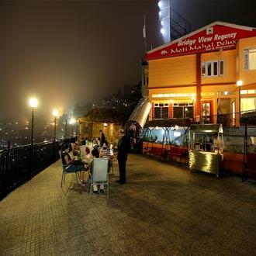
<svg viewBox="0 0 256 256">
<path fill-rule="evenodd" d="M 60 141 L 0 151 L 0 200 L 59 158 Z"/>
</svg>

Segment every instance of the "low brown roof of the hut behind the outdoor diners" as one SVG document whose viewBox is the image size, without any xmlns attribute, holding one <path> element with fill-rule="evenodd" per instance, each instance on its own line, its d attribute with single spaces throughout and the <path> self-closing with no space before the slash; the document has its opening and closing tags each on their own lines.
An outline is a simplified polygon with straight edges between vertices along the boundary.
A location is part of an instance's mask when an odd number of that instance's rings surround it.
<svg viewBox="0 0 256 256">
<path fill-rule="evenodd" d="M 117 109 L 92 109 L 88 114 L 79 119 L 79 123 L 98 122 L 98 123 L 124 123 L 123 115 Z"/>
</svg>

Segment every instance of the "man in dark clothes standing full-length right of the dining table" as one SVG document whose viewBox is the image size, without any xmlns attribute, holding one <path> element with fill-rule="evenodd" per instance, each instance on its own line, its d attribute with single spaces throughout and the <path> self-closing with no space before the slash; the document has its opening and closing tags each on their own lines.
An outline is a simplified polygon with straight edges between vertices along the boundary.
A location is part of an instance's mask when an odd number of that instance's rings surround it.
<svg viewBox="0 0 256 256">
<path fill-rule="evenodd" d="M 127 154 L 130 150 L 130 144 L 127 137 L 125 136 L 124 130 L 119 130 L 119 140 L 118 140 L 118 154 L 117 160 L 119 165 L 119 183 L 126 184 L 126 161 Z"/>
</svg>

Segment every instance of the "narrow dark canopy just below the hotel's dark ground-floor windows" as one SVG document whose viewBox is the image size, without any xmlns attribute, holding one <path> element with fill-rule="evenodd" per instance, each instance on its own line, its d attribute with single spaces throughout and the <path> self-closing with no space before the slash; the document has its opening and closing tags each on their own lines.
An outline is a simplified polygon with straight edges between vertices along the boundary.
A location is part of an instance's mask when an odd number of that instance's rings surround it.
<svg viewBox="0 0 256 256">
<path fill-rule="evenodd" d="M 147 121 L 144 128 L 148 127 L 171 127 L 171 126 L 191 126 L 189 118 L 153 119 Z"/>
</svg>

